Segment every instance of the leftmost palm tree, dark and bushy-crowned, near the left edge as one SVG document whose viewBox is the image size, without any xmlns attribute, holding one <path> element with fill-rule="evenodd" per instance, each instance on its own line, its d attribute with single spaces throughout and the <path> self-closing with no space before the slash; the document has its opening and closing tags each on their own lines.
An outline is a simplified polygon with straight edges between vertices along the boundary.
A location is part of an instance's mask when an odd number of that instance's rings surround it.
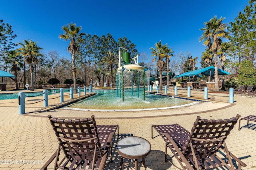
<svg viewBox="0 0 256 170">
<path fill-rule="evenodd" d="M 22 56 L 17 55 L 17 51 L 12 50 L 7 53 L 7 57 L 4 59 L 6 64 L 11 64 L 11 71 L 14 72 L 15 79 L 15 88 L 19 89 L 18 87 L 18 71 L 20 71 L 20 67 L 23 67 L 22 63 Z"/>
</svg>

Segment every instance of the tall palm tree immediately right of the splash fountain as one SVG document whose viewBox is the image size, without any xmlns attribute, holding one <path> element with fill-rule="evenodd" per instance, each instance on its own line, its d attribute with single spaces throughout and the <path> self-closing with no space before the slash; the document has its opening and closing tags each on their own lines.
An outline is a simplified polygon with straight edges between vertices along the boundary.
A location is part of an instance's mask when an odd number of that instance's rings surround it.
<svg viewBox="0 0 256 170">
<path fill-rule="evenodd" d="M 156 43 L 156 49 L 154 49 L 153 47 L 150 47 L 150 49 L 152 50 L 151 53 L 151 57 L 155 57 L 152 62 L 154 63 L 154 61 L 156 61 L 156 67 L 159 68 L 159 90 L 162 90 L 162 71 L 163 71 L 163 67 L 164 67 L 164 49 L 166 49 L 167 44 L 162 45 L 161 40 Z"/>
</svg>

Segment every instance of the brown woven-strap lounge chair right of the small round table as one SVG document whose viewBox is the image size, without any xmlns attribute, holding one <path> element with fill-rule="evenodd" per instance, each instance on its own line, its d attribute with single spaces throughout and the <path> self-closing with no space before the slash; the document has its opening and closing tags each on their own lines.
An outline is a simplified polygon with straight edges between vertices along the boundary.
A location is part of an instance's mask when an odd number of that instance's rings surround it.
<svg viewBox="0 0 256 170">
<path fill-rule="evenodd" d="M 241 170 L 246 164 L 230 153 L 225 143 L 239 117 L 240 115 L 236 115 L 230 119 L 208 120 L 198 116 L 190 133 L 178 124 L 152 125 L 151 130 L 154 127 L 166 142 L 165 162 L 170 162 L 176 168 L 178 167 L 174 161 L 167 159 L 167 148 L 170 148 L 180 163 L 182 168 L 179 169 L 203 170 L 226 166 L 234 170 L 234 161 L 231 160 L 233 158 Z M 153 138 L 153 132 L 151 137 Z M 219 149 L 222 152 L 218 152 Z"/>
</svg>

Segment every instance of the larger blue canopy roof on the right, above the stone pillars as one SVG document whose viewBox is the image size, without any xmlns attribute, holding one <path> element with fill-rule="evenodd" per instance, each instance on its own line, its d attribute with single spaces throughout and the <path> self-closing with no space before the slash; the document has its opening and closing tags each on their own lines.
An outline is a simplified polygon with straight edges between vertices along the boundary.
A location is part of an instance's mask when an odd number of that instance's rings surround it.
<svg viewBox="0 0 256 170">
<path fill-rule="evenodd" d="M 220 68 L 217 68 L 217 69 L 218 69 L 218 75 L 219 76 L 229 74 L 229 72 L 221 70 Z M 202 74 L 202 75 L 205 75 L 205 76 L 210 76 L 210 71 L 212 71 L 212 76 L 214 76 L 214 70 L 215 70 L 214 66 L 209 66 L 209 67 L 200 68 L 198 70 L 194 70 L 194 71 L 191 71 L 191 72 L 186 72 L 186 74 L 184 74 L 183 76 L 194 76 L 194 75 L 198 75 L 198 74 Z"/>
</svg>

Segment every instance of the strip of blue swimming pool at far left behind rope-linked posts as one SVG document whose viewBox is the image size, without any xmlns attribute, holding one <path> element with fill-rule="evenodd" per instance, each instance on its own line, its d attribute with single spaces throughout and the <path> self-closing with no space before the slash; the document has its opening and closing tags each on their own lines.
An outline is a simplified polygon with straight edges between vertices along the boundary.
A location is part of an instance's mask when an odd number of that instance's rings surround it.
<svg viewBox="0 0 256 170">
<path fill-rule="evenodd" d="M 48 95 L 59 93 L 60 89 L 49 89 Z M 0 100 L 6 100 L 6 99 L 18 99 L 19 93 L 6 93 L 6 94 L 0 94 Z M 34 96 L 43 96 L 43 92 L 25 92 L 25 97 L 34 97 Z"/>
</svg>

